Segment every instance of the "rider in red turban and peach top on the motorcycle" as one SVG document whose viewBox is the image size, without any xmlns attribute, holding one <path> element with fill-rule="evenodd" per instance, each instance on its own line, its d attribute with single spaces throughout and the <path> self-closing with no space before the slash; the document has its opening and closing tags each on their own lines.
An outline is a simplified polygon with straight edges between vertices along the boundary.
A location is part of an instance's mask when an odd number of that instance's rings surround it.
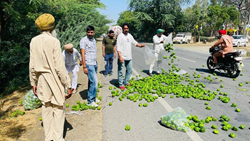
<svg viewBox="0 0 250 141">
<path fill-rule="evenodd" d="M 221 45 L 221 50 L 216 52 L 213 55 L 213 61 L 215 63 L 214 68 L 219 68 L 217 58 L 218 57 L 225 57 L 225 54 L 233 52 L 233 38 L 231 36 L 226 35 L 226 30 L 220 30 L 220 39 L 210 48 L 213 49 L 217 47 L 218 45 Z"/>
</svg>

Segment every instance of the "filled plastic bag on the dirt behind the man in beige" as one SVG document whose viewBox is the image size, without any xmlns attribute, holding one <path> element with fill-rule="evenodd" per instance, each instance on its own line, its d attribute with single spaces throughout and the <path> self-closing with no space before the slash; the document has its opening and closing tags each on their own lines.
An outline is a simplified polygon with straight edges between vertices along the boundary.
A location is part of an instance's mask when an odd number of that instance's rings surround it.
<svg viewBox="0 0 250 141">
<path fill-rule="evenodd" d="M 42 106 L 42 102 L 33 93 L 33 90 L 28 91 L 23 97 L 23 106 L 25 110 L 33 110 Z"/>
</svg>

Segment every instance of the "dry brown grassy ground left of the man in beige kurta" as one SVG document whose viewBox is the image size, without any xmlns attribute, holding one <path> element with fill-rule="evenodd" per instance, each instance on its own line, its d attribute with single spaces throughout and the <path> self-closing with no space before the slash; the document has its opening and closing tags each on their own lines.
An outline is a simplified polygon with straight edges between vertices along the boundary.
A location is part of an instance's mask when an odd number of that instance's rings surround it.
<svg viewBox="0 0 250 141">
<path fill-rule="evenodd" d="M 37 114 L 40 109 L 25 111 L 25 115 L 10 117 L 15 110 L 24 111 L 24 107 L 19 104 L 27 91 L 14 92 L 0 100 L 0 141 L 20 140 L 19 138 L 37 122 Z M 22 139 L 28 140 L 28 139 Z"/>
</svg>

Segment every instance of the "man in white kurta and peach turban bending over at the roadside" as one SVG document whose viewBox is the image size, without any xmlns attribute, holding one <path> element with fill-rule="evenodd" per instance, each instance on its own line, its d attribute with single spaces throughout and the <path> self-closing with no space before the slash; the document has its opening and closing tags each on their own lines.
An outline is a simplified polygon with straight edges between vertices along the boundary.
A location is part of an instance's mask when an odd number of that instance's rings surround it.
<svg viewBox="0 0 250 141">
<path fill-rule="evenodd" d="M 82 65 L 82 58 L 80 53 L 73 48 L 73 44 L 69 43 L 64 46 L 64 50 L 62 52 L 64 63 L 68 73 L 72 73 L 72 84 L 71 88 L 73 90 L 73 94 L 77 92 L 77 72 L 79 71 L 79 64 L 77 59 L 80 61 L 80 65 Z"/>
</svg>

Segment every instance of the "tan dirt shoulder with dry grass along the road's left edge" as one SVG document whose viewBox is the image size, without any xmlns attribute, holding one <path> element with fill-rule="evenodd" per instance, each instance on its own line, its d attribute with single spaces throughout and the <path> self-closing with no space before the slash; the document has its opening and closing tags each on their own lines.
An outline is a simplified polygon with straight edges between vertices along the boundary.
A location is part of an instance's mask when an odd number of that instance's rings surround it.
<svg viewBox="0 0 250 141">
<path fill-rule="evenodd" d="M 103 70 L 101 42 L 97 42 L 98 56 L 98 82 L 101 82 L 100 70 Z M 87 102 L 88 77 L 83 73 L 82 67 L 78 72 L 78 92 L 66 101 L 70 106 L 65 108 L 66 113 L 76 101 Z M 25 115 L 10 118 L 14 110 L 24 111 L 19 101 L 25 92 L 14 92 L 0 100 L 0 141 L 43 141 L 44 131 L 41 117 L 41 108 L 25 111 Z M 98 94 L 101 96 L 101 89 Z M 100 102 L 102 105 L 102 102 Z M 101 141 L 102 140 L 102 110 L 80 111 L 82 116 L 76 114 L 66 115 L 64 137 L 66 141 Z"/>
</svg>

